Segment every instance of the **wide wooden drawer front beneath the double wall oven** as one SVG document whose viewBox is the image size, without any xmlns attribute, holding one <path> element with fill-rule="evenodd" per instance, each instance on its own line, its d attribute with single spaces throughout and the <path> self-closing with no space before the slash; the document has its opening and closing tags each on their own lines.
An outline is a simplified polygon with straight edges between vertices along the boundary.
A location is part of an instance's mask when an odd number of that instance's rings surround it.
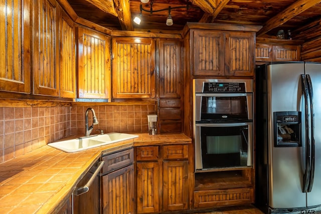
<svg viewBox="0 0 321 214">
<path fill-rule="evenodd" d="M 253 188 L 194 191 L 194 207 L 253 203 Z"/>
</svg>

